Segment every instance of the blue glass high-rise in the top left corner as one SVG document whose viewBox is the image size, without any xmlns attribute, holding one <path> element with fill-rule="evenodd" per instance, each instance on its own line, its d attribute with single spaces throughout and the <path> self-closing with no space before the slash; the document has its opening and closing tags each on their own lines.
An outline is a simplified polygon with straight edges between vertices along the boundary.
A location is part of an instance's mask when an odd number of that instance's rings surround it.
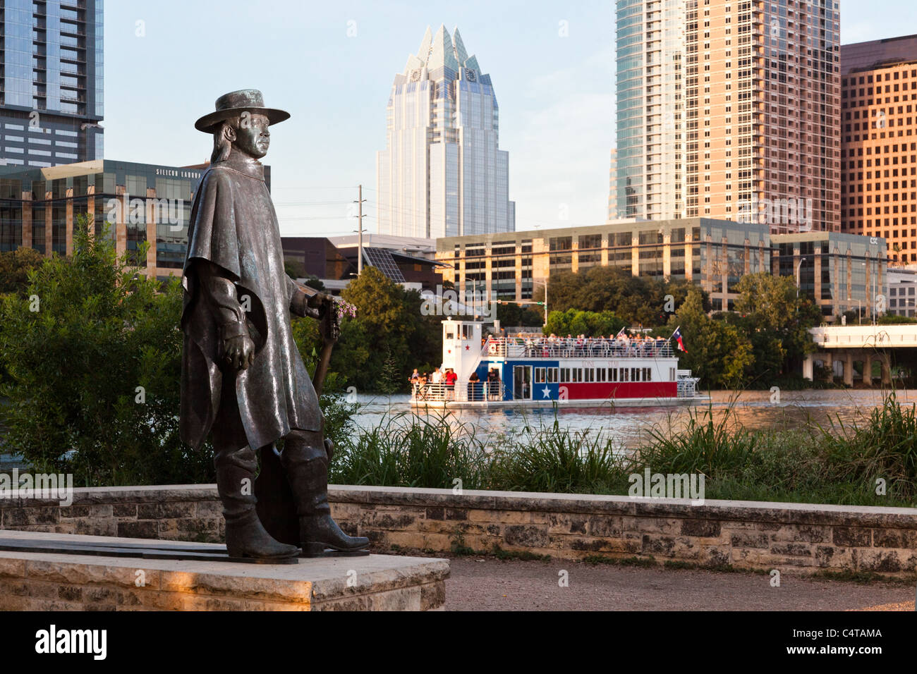
<svg viewBox="0 0 917 674">
<path fill-rule="evenodd" d="M 103 0 L 4 0 L 0 36 L 0 164 L 103 159 Z"/>
</svg>

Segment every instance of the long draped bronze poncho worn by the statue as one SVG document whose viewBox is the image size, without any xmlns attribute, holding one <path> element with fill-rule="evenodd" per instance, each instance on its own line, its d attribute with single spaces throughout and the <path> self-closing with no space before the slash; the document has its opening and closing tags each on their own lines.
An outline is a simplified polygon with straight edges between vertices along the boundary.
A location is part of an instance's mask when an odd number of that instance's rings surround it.
<svg viewBox="0 0 917 674">
<path fill-rule="evenodd" d="M 283 270 L 283 249 L 271 193 L 257 161 L 229 160 L 204 172 L 191 210 L 182 271 L 182 440 L 200 447 L 220 405 L 223 371 L 215 316 L 195 273 L 210 260 L 236 283 L 255 342 L 254 362 L 239 370 L 236 395 L 253 448 L 269 445 L 291 428 L 321 429 L 312 381 L 293 342 L 290 302 L 296 285 Z M 232 376 L 232 375 L 227 375 Z"/>
</svg>

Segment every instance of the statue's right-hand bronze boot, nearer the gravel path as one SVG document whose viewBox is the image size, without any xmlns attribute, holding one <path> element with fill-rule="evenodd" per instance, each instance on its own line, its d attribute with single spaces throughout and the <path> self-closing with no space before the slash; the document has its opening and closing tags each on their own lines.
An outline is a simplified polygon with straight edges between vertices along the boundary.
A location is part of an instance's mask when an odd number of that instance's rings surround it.
<svg viewBox="0 0 917 674">
<path fill-rule="evenodd" d="M 292 431 L 284 438 L 281 463 L 299 515 L 299 541 L 304 557 L 319 557 L 328 547 L 345 553 L 365 554 L 370 539 L 348 536 L 331 518 L 328 458 L 322 434 Z"/>
</svg>

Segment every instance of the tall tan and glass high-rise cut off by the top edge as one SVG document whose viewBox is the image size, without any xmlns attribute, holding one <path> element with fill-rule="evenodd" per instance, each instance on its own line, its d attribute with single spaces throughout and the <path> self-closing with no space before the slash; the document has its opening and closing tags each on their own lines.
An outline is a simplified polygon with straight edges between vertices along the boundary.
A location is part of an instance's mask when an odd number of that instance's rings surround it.
<svg viewBox="0 0 917 674">
<path fill-rule="evenodd" d="M 837 0 L 618 0 L 619 215 L 840 229 Z"/>
</svg>

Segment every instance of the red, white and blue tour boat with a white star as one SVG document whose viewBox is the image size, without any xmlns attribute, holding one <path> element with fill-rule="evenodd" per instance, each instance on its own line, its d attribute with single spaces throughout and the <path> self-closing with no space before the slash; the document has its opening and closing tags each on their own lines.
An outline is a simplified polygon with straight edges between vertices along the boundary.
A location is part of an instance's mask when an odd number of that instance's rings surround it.
<svg viewBox="0 0 917 674">
<path fill-rule="evenodd" d="M 415 384 L 417 406 L 657 406 L 709 400 L 665 338 L 482 337 L 479 322 L 443 321 L 440 382 Z"/>
</svg>

